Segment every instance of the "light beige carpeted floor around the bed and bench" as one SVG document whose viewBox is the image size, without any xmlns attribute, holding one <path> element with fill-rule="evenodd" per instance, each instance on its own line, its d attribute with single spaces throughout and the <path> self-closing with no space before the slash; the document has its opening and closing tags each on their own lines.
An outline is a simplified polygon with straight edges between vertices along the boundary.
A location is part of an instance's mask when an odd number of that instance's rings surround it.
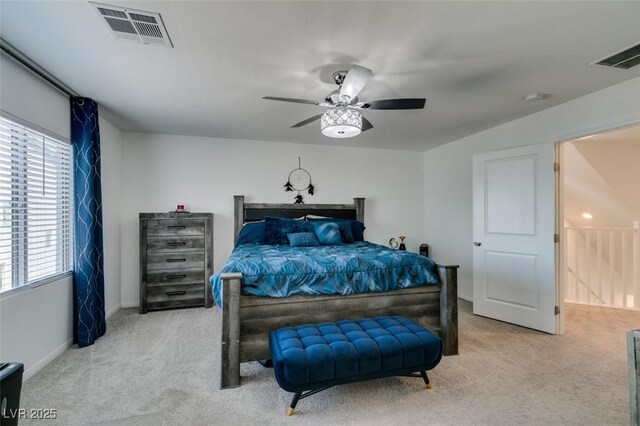
<svg viewBox="0 0 640 426">
<path fill-rule="evenodd" d="M 20 424 L 629 423 L 625 332 L 640 312 L 569 305 L 566 335 L 551 336 L 460 308 L 461 354 L 429 373 L 432 391 L 412 378 L 343 385 L 300 401 L 291 418 L 291 395 L 257 363 L 242 365 L 240 388 L 218 390 L 217 309 L 125 309 L 95 345 L 24 384 L 23 408 L 58 417 Z"/>
</svg>

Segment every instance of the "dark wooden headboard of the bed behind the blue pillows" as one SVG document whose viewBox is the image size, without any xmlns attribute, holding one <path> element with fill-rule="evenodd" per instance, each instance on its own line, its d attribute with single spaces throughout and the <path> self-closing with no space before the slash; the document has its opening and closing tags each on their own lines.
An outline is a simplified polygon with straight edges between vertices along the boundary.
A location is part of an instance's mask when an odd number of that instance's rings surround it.
<svg viewBox="0 0 640 426">
<path fill-rule="evenodd" d="M 242 225 L 267 216 L 300 217 L 312 214 L 336 219 L 356 219 L 364 223 L 364 198 L 354 198 L 353 204 L 273 204 L 245 203 L 244 195 L 234 195 L 233 205 L 233 242 L 238 240 Z"/>
</svg>

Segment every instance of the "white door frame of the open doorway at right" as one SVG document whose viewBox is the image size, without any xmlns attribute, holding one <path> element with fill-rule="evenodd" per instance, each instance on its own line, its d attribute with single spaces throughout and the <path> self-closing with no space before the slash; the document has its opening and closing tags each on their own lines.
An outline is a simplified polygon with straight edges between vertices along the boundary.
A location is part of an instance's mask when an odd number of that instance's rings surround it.
<svg viewBox="0 0 640 426">
<path fill-rule="evenodd" d="M 627 127 L 639 126 L 640 118 L 622 120 L 619 123 L 609 126 L 598 126 L 589 131 L 581 131 L 573 134 L 571 137 L 563 137 L 556 140 L 554 144 L 554 163 L 560 167 L 554 173 L 554 196 L 555 196 L 555 233 L 560 236 L 560 242 L 555 247 L 555 276 L 556 276 L 556 306 L 560 307 L 559 315 L 556 315 L 556 334 L 564 334 L 566 328 L 565 316 L 565 286 L 566 274 L 566 250 L 567 242 L 564 235 L 564 144 L 566 142 L 575 141 L 591 135 L 607 133 L 614 130 L 620 130 Z"/>
</svg>

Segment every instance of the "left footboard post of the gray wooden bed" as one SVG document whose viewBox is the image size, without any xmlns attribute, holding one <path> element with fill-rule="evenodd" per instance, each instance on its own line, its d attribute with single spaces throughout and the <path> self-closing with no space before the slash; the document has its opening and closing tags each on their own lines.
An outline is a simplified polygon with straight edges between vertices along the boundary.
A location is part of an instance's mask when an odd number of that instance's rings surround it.
<svg viewBox="0 0 640 426">
<path fill-rule="evenodd" d="M 220 389 L 240 386 L 240 284 L 242 274 L 221 274 L 222 345 Z"/>
</svg>

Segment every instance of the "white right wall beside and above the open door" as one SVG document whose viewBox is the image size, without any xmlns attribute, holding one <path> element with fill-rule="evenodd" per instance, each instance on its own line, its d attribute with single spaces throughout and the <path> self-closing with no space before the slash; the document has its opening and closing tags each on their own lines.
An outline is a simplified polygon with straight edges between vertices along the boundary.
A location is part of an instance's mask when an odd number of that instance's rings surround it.
<svg viewBox="0 0 640 426">
<path fill-rule="evenodd" d="M 473 154 L 564 141 L 634 122 L 640 122 L 640 78 L 425 152 L 424 239 L 436 261 L 460 265 L 459 295 L 473 297 Z"/>
</svg>

